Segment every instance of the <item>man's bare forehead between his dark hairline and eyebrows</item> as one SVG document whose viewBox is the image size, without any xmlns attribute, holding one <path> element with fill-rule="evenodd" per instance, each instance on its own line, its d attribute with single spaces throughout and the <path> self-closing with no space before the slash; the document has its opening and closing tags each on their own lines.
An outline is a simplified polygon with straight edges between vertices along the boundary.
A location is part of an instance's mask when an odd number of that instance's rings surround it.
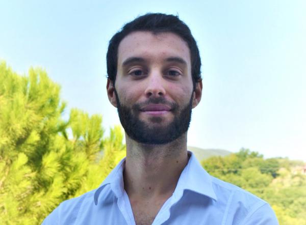
<svg viewBox="0 0 306 225">
<path fill-rule="evenodd" d="M 173 33 L 133 32 L 122 39 L 118 47 L 118 66 L 130 57 L 162 60 L 168 57 L 183 58 L 190 65 L 187 43 Z"/>
</svg>

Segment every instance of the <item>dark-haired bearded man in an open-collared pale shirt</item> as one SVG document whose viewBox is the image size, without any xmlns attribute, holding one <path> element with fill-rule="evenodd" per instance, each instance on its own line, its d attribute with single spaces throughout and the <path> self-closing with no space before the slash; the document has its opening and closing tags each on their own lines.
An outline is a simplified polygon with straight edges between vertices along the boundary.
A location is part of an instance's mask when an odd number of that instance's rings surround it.
<svg viewBox="0 0 306 225">
<path fill-rule="evenodd" d="M 176 16 L 146 14 L 113 36 L 107 94 L 125 130 L 126 158 L 44 224 L 278 224 L 266 202 L 211 177 L 187 151 L 200 65 L 196 42 Z"/>
</svg>

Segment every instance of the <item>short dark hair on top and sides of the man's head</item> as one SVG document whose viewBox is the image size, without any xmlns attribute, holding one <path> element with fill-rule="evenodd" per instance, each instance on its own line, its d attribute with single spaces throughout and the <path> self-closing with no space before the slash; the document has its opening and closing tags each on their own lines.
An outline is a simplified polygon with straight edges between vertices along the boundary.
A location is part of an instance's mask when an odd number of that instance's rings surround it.
<svg viewBox="0 0 306 225">
<path fill-rule="evenodd" d="M 139 16 L 133 21 L 126 23 L 110 40 L 106 60 L 108 78 L 115 82 L 118 63 L 118 46 L 122 39 L 135 31 L 149 31 L 154 34 L 171 32 L 180 36 L 188 44 L 191 55 L 191 74 L 195 82 L 201 80 L 201 59 L 199 49 L 189 27 L 174 15 L 163 13 L 147 13 Z"/>
</svg>

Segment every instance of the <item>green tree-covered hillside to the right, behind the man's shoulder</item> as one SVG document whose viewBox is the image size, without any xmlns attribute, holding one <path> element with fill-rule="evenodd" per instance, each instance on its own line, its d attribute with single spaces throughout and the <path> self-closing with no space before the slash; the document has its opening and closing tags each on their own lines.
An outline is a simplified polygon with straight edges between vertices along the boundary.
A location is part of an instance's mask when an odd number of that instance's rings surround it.
<svg viewBox="0 0 306 225">
<path fill-rule="evenodd" d="M 306 224 L 306 175 L 292 171 L 303 162 L 264 159 L 257 152 L 241 149 L 235 154 L 206 159 L 202 165 L 213 176 L 266 200 L 279 224 Z"/>
</svg>

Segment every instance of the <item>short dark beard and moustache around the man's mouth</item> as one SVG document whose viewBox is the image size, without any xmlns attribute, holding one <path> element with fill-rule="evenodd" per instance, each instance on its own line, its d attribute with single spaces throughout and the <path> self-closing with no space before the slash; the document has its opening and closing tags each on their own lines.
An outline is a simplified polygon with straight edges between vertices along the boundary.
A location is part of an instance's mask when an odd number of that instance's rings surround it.
<svg viewBox="0 0 306 225">
<path fill-rule="evenodd" d="M 192 96 L 188 105 L 181 111 L 179 105 L 170 103 L 164 98 L 150 98 L 148 101 L 135 104 L 131 107 L 122 105 L 119 101 L 117 91 L 115 90 L 118 115 L 122 127 L 126 134 L 136 140 L 136 142 L 148 145 L 163 145 L 179 138 L 187 132 L 192 112 Z M 159 117 L 152 117 L 151 122 L 157 123 L 158 126 L 149 126 L 139 119 L 140 108 L 148 104 L 167 104 L 171 106 L 171 113 L 174 114 L 173 121 L 167 126 L 162 126 L 162 119 Z"/>
</svg>

